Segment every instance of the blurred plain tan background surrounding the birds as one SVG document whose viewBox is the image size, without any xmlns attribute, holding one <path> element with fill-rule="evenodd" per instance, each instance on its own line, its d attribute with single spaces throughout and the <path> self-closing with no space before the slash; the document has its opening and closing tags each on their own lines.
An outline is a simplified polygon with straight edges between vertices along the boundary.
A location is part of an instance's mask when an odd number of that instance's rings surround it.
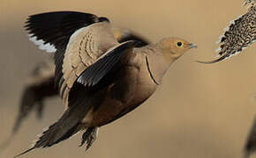
<svg viewBox="0 0 256 158">
<path fill-rule="evenodd" d="M 80 136 L 22 157 L 238 158 L 256 111 L 256 46 L 214 65 L 195 60 L 215 56 L 215 41 L 231 19 L 246 11 L 242 0 L 0 0 L 0 141 L 9 136 L 20 92 L 34 65 L 47 58 L 22 26 L 28 15 L 44 11 L 86 11 L 113 25 L 140 32 L 152 41 L 178 36 L 199 46 L 178 60 L 162 87 L 137 110 L 100 129 L 86 153 Z M 45 118 L 31 117 L 0 157 L 29 147 L 37 133 L 59 118 L 59 99 L 47 102 Z"/>
</svg>

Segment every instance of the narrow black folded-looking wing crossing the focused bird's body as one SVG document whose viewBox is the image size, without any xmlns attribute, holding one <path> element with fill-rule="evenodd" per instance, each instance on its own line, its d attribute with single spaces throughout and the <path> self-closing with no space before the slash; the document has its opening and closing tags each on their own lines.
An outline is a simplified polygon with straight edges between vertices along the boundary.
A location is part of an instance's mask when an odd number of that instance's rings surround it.
<svg viewBox="0 0 256 158">
<path fill-rule="evenodd" d="M 93 65 L 88 67 L 78 78 L 78 83 L 83 84 L 84 86 L 94 86 L 95 84 L 101 81 L 102 77 L 106 75 L 111 68 L 120 60 L 120 58 L 127 52 L 131 51 L 131 48 L 134 47 L 134 41 L 127 41 L 123 44 L 115 47 L 109 53 Z"/>
</svg>

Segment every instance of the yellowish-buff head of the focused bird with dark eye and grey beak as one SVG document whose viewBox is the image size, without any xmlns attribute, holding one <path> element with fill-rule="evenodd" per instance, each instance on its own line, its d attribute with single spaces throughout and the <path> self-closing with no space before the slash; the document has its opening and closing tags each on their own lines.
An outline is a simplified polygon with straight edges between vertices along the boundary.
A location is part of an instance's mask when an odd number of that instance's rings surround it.
<svg viewBox="0 0 256 158">
<path fill-rule="evenodd" d="M 180 38 L 164 38 L 157 44 L 167 60 L 177 60 L 187 50 L 197 46 Z"/>
</svg>

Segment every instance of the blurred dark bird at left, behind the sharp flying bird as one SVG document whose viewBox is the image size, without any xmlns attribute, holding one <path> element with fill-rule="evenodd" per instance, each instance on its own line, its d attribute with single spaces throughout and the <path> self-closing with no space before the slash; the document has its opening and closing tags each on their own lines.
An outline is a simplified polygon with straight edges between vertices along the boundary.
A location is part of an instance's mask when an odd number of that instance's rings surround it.
<svg viewBox="0 0 256 158">
<path fill-rule="evenodd" d="M 23 90 L 19 104 L 19 114 L 13 126 L 12 133 L 17 133 L 21 122 L 35 109 L 38 118 L 42 117 L 43 101 L 58 94 L 54 83 L 54 63 L 45 61 L 36 66 Z"/>
</svg>

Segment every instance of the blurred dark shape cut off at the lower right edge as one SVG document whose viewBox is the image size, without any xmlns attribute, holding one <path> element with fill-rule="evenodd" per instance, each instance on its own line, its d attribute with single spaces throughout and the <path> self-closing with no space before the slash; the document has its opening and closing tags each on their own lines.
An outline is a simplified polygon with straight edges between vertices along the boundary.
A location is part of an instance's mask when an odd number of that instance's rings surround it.
<svg viewBox="0 0 256 158">
<path fill-rule="evenodd" d="M 252 123 L 252 128 L 250 133 L 248 133 L 247 140 L 245 142 L 245 158 L 249 158 L 251 154 L 256 151 L 256 117 Z"/>
</svg>

